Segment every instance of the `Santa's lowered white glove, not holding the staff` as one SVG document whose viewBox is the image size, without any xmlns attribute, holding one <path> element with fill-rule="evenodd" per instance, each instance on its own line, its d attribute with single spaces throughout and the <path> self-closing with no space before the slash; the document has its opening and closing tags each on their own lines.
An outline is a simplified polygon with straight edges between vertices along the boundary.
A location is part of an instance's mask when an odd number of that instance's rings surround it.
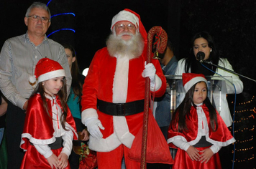
<svg viewBox="0 0 256 169">
<path fill-rule="evenodd" d="M 101 130 L 104 130 L 105 128 L 102 126 L 101 121 L 97 117 L 90 117 L 86 120 L 86 124 L 88 132 L 90 132 L 90 135 L 92 137 L 95 137 L 97 139 L 102 138 L 103 135 L 99 128 Z"/>
</svg>

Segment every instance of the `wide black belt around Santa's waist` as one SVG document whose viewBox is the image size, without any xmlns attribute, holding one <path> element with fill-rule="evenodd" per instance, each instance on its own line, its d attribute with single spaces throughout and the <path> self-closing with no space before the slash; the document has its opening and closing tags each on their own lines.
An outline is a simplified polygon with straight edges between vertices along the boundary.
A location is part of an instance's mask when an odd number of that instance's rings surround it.
<svg viewBox="0 0 256 169">
<path fill-rule="evenodd" d="M 97 100 L 97 107 L 99 111 L 104 112 L 107 115 L 134 115 L 144 111 L 144 100 L 125 103 L 113 103 Z"/>
</svg>

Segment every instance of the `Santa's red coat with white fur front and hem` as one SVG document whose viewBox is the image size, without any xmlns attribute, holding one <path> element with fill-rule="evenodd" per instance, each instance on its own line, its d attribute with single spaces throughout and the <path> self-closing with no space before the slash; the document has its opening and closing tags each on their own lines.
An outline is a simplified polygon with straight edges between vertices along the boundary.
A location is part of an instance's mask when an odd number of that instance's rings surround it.
<svg viewBox="0 0 256 169">
<path fill-rule="evenodd" d="M 99 117 L 105 130 L 103 138 L 90 137 L 90 148 L 99 152 L 109 152 L 124 144 L 131 148 L 135 135 L 142 127 L 143 112 L 129 116 L 111 116 L 97 110 L 97 99 L 105 102 L 132 102 L 145 99 L 146 47 L 142 56 L 134 59 L 111 57 L 106 47 L 96 52 L 88 75 L 83 84 L 82 122 L 88 117 Z M 162 82 L 155 97 L 165 93 L 166 79 L 157 59 L 152 59 L 156 74 Z M 124 99 L 125 98 L 125 99 Z"/>
</svg>

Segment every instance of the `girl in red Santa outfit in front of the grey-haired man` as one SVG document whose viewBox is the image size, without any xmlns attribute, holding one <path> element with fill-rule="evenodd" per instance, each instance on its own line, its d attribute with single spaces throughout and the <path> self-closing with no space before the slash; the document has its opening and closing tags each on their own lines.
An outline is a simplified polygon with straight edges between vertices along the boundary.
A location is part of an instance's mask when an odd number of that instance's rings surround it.
<svg viewBox="0 0 256 169">
<path fill-rule="evenodd" d="M 77 134 L 65 103 L 65 71 L 58 62 L 43 58 L 37 62 L 35 77 L 38 84 L 27 106 L 20 145 L 26 153 L 20 168 L 70 168 L 68 156 Z"/>
</svg>

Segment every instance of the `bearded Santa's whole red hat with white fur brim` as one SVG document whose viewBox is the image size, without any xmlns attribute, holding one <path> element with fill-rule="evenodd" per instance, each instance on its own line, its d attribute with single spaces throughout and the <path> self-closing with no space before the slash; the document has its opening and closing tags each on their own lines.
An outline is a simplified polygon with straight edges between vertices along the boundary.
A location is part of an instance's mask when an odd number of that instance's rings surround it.
<svg viewBox="0 0 256 169">
<path fill-rule="evenodd" d="M 129 21 L 134 26 L 136 26 L 136 29 L 140 34 L 142 34 L 142 37 L 147 41 L 147 32 L 145 27 L 142 24 L 142 21 L 140 20 L 140 15 L 136 12 L 130 10 L 130 9 L 124 9 L 123 11 L 119 11 L 118 14 L 116 14 L 111 23 L 111 31 L 113 31 L 114 25 L 119 21 Z"/>
</svg>

